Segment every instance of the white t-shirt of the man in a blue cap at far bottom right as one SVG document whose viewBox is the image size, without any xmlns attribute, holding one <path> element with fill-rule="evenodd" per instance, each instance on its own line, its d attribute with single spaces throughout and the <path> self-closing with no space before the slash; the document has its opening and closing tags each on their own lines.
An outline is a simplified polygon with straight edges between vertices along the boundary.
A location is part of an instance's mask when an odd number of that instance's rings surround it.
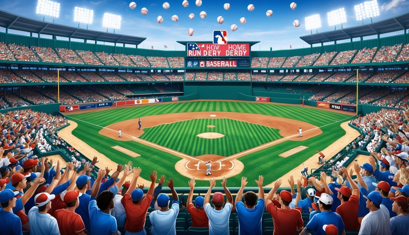
<svg viewBox="0 0 409 235">
<path fill-rule="evenodd" d="M 391 235 L 389 211 L 383 204 L 381 204 L 381 208 L 378 211 L 372 211 L 365 215 L 358 233 L 358 235 L 377 234 Z"/>
</svg>

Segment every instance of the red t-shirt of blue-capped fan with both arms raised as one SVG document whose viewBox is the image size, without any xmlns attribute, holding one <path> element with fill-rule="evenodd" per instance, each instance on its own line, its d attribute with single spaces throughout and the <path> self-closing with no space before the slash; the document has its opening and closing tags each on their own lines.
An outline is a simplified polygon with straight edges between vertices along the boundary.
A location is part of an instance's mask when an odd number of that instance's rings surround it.
<svg viewBox="0 0 409 235">
<path fill-rule="evenodd" d="M 129 194 L 125 194 L 124 197 L 122 197 L 121 202 L 122 205 L 124 205 L 126 213 L 126 231 L 136 233 L 144 229 L 146 213 L 148 212 L 149 206 L 151 206 L 152 200 L 153 197 L 147 194 L 146 197 L 142 199 L 141 204 L 133 204 Z"/>
</svg>

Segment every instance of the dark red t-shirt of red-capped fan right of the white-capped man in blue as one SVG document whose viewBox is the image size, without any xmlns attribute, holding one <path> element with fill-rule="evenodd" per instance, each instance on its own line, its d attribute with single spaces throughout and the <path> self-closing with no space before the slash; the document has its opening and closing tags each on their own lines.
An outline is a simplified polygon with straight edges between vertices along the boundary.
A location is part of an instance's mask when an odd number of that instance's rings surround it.
<svg viewBox="0 0 409 235">
<path fill-rule="evenodd" d="M 345 224 L 345 230 L 359 230 L 361 224 L 358 221 L 359 198 L 352 195 L 348 202 L 337 207 L 336 212 L 341 215 Z"/>
</svg>

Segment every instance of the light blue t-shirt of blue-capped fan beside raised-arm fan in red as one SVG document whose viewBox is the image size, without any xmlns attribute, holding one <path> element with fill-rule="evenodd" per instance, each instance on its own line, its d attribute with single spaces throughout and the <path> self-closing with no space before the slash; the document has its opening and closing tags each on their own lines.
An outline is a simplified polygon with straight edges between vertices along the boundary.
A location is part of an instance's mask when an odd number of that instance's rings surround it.
<svg viewBox="0 0 409 235">
<path fill-rule="evenodd" d="M 176 235 L 176 217 L 179 213 L 179 201 L 173 200 L 169 211 L 152 211 L 151 219 L 152 235 Z"/>
</svg>

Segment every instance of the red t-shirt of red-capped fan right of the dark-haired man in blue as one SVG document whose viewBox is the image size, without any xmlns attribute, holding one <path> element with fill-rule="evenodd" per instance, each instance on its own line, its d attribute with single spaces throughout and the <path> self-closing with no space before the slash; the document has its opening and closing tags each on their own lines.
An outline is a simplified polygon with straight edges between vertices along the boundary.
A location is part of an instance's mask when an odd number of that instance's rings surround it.
<svg viewBox="0 0 409 235">
<path fill-rule="evenodd" d="M 273 217 L 273 235 L 289 234 L 296 235 L 297 227 L 304 225 L 301 212 L 296 209 L 279 209 L 274 203 L 267 205 L 267 212 Z"/>
</svg>

